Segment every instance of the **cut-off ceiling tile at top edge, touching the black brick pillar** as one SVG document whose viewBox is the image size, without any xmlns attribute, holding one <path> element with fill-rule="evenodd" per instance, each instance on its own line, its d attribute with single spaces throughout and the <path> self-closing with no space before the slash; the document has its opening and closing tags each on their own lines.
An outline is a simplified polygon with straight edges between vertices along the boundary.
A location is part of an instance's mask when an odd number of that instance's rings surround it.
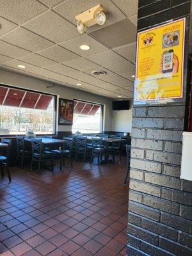
<svg viewBox="0 0 192 256">
<path fill-rule="evenodd" d="M 127 17 L 138 13 L 138 0 L 112 0 L 112 2 L 118 6 Z"/>
</svg>

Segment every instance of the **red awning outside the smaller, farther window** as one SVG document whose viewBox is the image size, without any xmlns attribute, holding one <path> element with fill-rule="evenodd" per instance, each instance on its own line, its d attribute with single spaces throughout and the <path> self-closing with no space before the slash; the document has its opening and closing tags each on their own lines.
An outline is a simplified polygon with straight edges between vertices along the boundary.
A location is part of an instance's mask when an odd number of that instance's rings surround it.
<svg viewBox="0 0 192 256">
<path fill-rule="evenodd" d="M 74 114 L 95 115 L 100 105 L 74 100 Z"/>
</svg>

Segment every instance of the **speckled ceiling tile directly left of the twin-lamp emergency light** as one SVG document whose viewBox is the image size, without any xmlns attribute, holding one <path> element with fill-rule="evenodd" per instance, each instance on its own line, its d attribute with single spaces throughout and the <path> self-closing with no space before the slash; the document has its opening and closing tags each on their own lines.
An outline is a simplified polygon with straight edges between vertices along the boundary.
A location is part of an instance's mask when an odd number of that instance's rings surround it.
<svg viewBox="0 0 192 256">
<path fill-rule="evenodd" d="M 35 19 L 30 20 L 24 24 L 24 28 L 40 36 L 44 36 L 57 44 L 80 36 L 76 26 L 70 24 L 70 22 L 52 11 L 43 13 Z"/>
</svg>

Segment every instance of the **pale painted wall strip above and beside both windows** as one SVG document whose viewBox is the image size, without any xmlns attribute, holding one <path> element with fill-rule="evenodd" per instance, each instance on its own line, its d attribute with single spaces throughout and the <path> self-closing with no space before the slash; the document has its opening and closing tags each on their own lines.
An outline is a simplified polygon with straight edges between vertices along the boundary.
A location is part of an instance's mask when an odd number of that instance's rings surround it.
<svg viewBox="0 0 192 256">
<path fill-rule="evenodd" d="M 53 83 L 5 70 L 0 70 L 0 83 L 30 89 L 36 92 L 51 93 L 64 99 L 79 99 L 104 104 L 104 131 L 111 131 L 112 100 L 107 97 L 94 95 L 63 85 L 46 88 L 46 86 L 52 86 Z M 72 131 L 72 127 L 70 125 L 59 125 L 58 131 Z"/>
</svg>

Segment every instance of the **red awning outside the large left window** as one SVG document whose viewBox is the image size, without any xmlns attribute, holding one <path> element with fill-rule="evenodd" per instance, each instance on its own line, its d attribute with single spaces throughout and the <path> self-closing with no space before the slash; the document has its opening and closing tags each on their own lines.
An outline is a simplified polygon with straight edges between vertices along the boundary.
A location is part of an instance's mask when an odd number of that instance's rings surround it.
<svg viewBox="0 0 192 256">
<path fill-rule="evenodd" d="M 0 105 L 47 109 L 53 96 L 0 86 Z"/>
</svg>

